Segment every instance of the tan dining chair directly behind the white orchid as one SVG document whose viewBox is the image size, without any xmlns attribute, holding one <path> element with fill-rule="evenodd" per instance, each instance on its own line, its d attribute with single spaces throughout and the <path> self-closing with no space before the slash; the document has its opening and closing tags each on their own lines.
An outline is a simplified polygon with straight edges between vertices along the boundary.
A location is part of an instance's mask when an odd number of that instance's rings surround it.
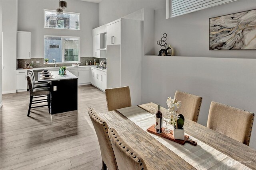
<svg viewBox="0 0 256 170">
<path fill-rule="evenodd" d="M 184 115 L 185 119 L 197 122 L 202 97 L 176 90 L 174 98 L 181 102 L 181 107 L 178 109 L 177 113 Z"/>
</svg>

